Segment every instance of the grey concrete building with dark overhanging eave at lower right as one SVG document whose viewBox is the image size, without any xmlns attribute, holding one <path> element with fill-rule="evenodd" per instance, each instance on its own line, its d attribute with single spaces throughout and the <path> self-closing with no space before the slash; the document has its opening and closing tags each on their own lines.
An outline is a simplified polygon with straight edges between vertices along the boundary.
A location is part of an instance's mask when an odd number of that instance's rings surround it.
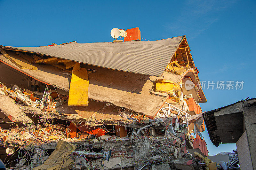
<svg viewBox="0 0 256 170">
<path fill-rule="evenodd" d="M 203 113 L 212 143 L 236 143 L 241 169 L 256 169 L 256 98 Z"/>
</svg>

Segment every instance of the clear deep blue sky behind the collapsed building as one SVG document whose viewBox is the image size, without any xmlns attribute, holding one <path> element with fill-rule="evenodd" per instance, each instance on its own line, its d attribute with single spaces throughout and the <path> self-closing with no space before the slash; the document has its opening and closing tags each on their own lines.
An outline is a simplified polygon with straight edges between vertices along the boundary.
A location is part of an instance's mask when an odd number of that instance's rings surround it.
<svg viewBox="0 0 256 170">
<path fill-rule="evenodd" d="M 0 44 L 108 42 L 114 27 L 139 27 L 141 38 L 186 35 L 201 81 L 244 81 L 242 90 L 204 90 L 203 111 L 256 97 L 256 1 L 3 1 Z M 216 85 L 215 87 L 216 88 Z M 236 149 L 215 147 L 202 133 L 209 155 Z"/>
</svg>

